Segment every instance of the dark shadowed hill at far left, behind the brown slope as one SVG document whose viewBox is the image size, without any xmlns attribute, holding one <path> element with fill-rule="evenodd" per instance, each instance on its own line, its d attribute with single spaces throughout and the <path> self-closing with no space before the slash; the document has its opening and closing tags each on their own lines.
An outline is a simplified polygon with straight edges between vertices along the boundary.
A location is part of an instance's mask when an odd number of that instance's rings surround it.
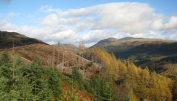
<svg viewBox="0 0 177 101">
<path fill-rule="evenodd" d="M 23 46 L 35 43 L 46 44 L 41 40 L 29 38 L 16 32 L 0 31 L 0 49 L 13 47 L 13 42 L 14 46 Z"/>
</svg>

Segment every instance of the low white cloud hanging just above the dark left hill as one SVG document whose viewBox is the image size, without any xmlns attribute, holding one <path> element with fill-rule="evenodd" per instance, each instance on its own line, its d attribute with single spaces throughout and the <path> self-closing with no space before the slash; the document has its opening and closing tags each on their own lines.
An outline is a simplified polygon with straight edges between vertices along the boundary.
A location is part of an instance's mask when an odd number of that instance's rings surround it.
<svg viewBox="0 0 177 101">
<path fill-rule="evenodd" d="M 0 30 L 18 32 L 25 34 L 28 37 L 38 38 L 49 44 L 51 42 L 74 42 L 75 32 L 67 26 L 43 27 L 37 28 L 34 26 L 17 26 L 8 22 L 0 22 Z M 72 41 L 73 40 L 73 41 Z"/>
</svg>

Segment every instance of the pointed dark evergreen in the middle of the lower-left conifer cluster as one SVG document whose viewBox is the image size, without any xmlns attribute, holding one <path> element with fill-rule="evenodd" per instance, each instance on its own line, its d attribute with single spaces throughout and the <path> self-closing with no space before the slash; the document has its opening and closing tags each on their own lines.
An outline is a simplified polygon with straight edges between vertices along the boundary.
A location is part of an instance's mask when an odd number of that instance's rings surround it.
<svg viewBox="0 0 177 101">
<path fill-rule="evenodd" d="M 24 76 L 28 78 L 29 84 L 33 86 L 32 94 L 35 101 L 50 101 L 52 91 L 48 86 L 48 73 L 42 67 L 39 59 L 33 61 L 31 65 L 25 69 Z"/>
</svg>

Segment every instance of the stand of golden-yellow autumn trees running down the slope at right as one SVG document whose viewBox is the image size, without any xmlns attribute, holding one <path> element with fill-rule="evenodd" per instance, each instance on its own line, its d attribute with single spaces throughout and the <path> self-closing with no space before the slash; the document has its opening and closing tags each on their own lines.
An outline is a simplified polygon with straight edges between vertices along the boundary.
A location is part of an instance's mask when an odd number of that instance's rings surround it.
<svg viewBox="0 0 177 101">
<path fill-rule="evenodd" d="M 132 101 L 171 101 L 172 80 L 142 69 L 131 62 L 116 59 L 103 49 L 93 48 L 92 58 L 102 68 L 106 68 L 107 75 L 112 81 L 118 81 L 118 86 L 125 87 L 127 95 Z M 121 82 L 121 83 L 120 83 Z M 124 85 L 124 86 L 121 86 Z M 125 90 L 122 89 L 122 90 Z M 125 92 L 125 91 L 121 91 Z"/>
</svg>

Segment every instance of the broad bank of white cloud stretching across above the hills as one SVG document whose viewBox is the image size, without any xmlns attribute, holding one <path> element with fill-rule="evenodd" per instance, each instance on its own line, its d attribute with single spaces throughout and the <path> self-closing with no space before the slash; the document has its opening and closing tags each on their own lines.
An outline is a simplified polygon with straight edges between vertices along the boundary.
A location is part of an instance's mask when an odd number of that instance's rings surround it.
<svg viewBox="0 0 177 101">
<path fill-rule="evenodd" d="M 1 20 L 0 30 L 16 31 L 50 44 L 94 44 L 108 37 L 126 36 L 177 39 L 177 16 L 156 14 L 146 3 L 118 2 L 68 10 L 47 5 L 39 12 L 47 14 L 39 25 L 19 26 Z M 16 14 L 11 12 L 9 16 Z"/>
</svg>

